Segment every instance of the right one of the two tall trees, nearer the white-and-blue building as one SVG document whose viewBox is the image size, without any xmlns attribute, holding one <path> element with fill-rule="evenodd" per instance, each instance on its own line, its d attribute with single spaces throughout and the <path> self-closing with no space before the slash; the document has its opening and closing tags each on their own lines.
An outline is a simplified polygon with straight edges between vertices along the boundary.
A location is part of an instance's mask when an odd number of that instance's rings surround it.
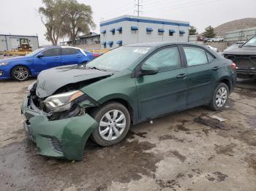
<svg viewBox="0 0 256 191">
<path fill-rule="evenodd" d="M 90 28 L 95 28 L 91 6 L 80 4 L 76 0 L 66 0 L 65 4 L 64 34 L 75 44 L 79 34 L 89 34 Z"/>
</svg>

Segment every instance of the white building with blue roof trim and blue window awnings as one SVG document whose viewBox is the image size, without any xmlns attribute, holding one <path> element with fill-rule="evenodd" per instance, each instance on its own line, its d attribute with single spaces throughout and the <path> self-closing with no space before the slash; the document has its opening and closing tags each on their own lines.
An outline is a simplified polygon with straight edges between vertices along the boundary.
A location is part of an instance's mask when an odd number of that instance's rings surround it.
<svg viewBox="0 0 256 191">
<path fill-rule="evenodd" d="M 102 48 L 138 42 L 188 42 L 189 22 L 124 15 L 100 23 Z"/>
</svg>

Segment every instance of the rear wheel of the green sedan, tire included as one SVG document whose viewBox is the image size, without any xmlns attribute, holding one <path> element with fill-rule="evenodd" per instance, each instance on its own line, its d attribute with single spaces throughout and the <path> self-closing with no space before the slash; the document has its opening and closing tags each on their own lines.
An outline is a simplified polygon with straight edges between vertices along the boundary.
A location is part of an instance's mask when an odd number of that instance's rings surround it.
<svg viewBox="0 0 256 191">
<path fill-rule="evenodd" d="M 222 110 L 227 104 L 227 98 L 229 95 L 229 89 L 225 83 L 219 83 L 214 90 L 214 95 L 212 95 L 211 102 L 209 104 L 210 109 L 214 111 Z"/>
</svg>

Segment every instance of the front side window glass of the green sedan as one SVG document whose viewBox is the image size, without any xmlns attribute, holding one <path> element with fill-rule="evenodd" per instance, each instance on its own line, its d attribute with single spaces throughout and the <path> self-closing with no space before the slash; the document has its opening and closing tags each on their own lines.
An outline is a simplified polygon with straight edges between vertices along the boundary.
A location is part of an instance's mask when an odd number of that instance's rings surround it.
<svg viewBox="0 0 256 191">
<path fill-rule="evenodd" d="M 151 55 L 144 64 L 156 66 L 159 71 L 178 69 L 181 67 L 181 58 L 178 47 L 167 47 Z"/>
</svg>

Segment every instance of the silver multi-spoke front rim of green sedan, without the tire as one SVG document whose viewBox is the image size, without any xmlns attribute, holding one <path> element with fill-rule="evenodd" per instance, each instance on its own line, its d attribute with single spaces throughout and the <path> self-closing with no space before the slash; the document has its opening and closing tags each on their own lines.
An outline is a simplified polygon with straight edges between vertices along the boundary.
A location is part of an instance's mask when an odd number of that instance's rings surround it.
<svg viewBox="0 0 256 191">
<path fill-rule="evenodd" d="M 105 113 L 99 122 L 99 135 L 106 141 L 117 139 L 124 132 L 127 120 L 123 112 L 118 109 Z"/>
</svg>

